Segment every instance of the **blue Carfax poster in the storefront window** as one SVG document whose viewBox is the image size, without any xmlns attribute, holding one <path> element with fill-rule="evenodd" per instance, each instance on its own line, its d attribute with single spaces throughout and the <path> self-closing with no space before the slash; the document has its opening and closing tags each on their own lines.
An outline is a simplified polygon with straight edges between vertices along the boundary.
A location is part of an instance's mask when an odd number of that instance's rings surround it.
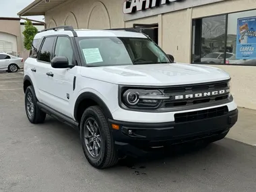
<svg viewBox="0 0 256 192">
<path fill-rule="evenodd" d="M 256 17 L 239 18 L 236 34 L 236 59 L 256 59 Z"/>
</svg>

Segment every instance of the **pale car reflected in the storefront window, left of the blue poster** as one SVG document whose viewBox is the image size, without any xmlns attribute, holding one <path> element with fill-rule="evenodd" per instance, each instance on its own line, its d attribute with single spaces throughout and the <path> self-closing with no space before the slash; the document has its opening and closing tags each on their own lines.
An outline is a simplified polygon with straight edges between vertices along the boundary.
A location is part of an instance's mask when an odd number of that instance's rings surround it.
<svg viewBox="0 0 256 192">
<path fill-rule="evenodd" d="M 226 59 L 232 57 L 234 53 L 226 53 Z M 201 58 L 201 63 L 216 63 L 223 64 L 224 63 L 224 53 L 222 52 L 214 52 L 208 53 L 205 57 Z"/>
</svg>

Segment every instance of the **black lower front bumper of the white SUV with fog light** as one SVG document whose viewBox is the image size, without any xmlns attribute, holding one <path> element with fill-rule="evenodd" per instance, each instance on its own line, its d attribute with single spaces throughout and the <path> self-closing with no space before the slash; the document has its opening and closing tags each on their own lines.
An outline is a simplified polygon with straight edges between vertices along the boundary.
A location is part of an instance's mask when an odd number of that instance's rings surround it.
<svg viewBox="0 0 256 192">
<path fill-rule="evenodd" d="M 141 152 L 170 146 L 177 143 L 214 137 L 224 134 L 238 120 L 238 109 L 219 117 L 205 118 L 183 123 L 130 123 L 109 120 L 109 126 L 119 125 L 113 130 L 117 150 L 139 156 Z"/>
</svg>

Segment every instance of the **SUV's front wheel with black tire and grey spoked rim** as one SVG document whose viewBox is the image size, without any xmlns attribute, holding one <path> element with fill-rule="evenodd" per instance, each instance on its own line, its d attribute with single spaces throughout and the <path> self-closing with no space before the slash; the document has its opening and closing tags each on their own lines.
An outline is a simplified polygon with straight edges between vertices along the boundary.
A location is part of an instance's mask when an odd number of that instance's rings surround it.
<svg viewBox="0 0 256 192">
<path fill-rule="evenodd" d="M 90 106 L 84 111 L 80 139 L 88 162 L 95 168 L 108 168 L 117 163 L 113 136 L 99 106 Z"/>
</svg>

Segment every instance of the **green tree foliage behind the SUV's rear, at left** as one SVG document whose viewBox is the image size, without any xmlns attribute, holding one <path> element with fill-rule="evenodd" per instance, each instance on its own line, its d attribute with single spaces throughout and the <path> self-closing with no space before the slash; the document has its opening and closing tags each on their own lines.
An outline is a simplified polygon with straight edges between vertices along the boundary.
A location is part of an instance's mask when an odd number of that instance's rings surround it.
<svg viewBox="0 0 256 192">
<path fill-rule="evenodd" d="M 34 39 L 34 36 L 38 33 L 36 27 L 33 26 L 31 21 L 25 22 L 25 30 L 22 32 L 24 34 L 24 47 L 26 50 L 31 49 L 31 45 Z"/>
</svg>

